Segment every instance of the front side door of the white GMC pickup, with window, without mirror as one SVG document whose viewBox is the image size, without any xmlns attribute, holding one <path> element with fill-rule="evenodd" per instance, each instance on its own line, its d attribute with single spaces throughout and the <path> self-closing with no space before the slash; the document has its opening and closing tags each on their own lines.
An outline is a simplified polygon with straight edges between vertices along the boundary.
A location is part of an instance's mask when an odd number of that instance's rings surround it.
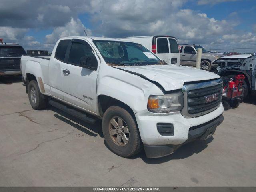
<svg viewBox="0 0 256 192">
<path fill-rule="evenodd" d="M 61 68 L 63 99 L 68 103 L 96 112 L 98 69 L 90 70 L 81 67 L 80 58 L 84 56 L 95 56 L 92 47 L 84 40 L 73 39 Z M 98 63 L 100 63 L 99 60 Z"/>
</svg>

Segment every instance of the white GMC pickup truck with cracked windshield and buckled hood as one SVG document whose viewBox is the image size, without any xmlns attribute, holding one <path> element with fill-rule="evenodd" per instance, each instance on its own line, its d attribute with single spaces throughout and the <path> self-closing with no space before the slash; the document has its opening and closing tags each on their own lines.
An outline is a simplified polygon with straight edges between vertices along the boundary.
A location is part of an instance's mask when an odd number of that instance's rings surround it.
<svg viewBox="0 0 256 192">
<path fill-rule="evenodd" d="M 32 108 L 47 103 L 86 122 L 102 119 L 112 152 L 144 148 L 156 158 L 194 139 L 206 140 L 223 121 L 222 80 L 160 60 L 144 46 L 98 37 L 66 37 L 50 57 L 22 56 Z"/>
</svg>

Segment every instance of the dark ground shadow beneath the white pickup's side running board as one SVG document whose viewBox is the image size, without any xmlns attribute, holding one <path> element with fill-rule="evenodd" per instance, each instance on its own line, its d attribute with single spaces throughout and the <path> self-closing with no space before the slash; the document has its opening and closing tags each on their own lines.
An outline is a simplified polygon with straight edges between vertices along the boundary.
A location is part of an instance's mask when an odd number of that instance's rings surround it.
<svg viewBox="0 0 256 192">
<path fill-rule="evenodd" d="M 54 114 L 54 117 L 84 132 L 85 134 L 88 134 L 92 137 L 96 137 L 99 135 L 103 138 L 101 120 L 97 120 L 94 124 L 89 124 L 70 114 L 63 112 L 62 110 L 59 110 L 58 108 L 54 108 L 53 106 L 48 105 L 47 110 L 56 112 L 57 114 Z"/>
</svg>

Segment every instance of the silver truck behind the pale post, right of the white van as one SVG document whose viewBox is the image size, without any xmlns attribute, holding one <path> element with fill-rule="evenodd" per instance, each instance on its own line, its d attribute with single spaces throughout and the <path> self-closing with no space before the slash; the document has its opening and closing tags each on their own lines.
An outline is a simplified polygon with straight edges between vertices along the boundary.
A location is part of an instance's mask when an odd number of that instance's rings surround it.
<svg viewBox="0 0 256 192">
<path fill-rule="evenodd" d="M 212 61 L 220 58 L 220 54 L 209 53 L 202 46 L 195 44 L 182 44 L 180 48 L 180 64 L 184 66 L 196 66 L 196 58 L 197 58 L 197 49 L 201 48 L 202 51 L 202 59 L 201 59 L 201 69 L 210 71 L 211 68 L 215 68 L 218 65 L 213 65 Z"/>
</svg>

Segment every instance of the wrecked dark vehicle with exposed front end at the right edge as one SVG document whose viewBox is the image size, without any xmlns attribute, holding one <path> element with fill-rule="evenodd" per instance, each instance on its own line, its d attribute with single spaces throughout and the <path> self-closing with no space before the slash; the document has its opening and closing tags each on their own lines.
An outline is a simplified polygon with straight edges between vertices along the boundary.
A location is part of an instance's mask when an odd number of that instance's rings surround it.
<svg viewBox="0 0 256 192">
<path fill-rule="evenodd" d="M 256 57 L 251 54 L 224 56 L 215 60 L 213 63 L 218 64 L 216 68 L 216 74 L 224 76 L 226 78 L 232 78 L 236 75 L 244 75 L 243 80 L 244 98 L 248 96 L 250 92 L 255 93 L 255 81 L 256 81 Z"/>
</svg>

